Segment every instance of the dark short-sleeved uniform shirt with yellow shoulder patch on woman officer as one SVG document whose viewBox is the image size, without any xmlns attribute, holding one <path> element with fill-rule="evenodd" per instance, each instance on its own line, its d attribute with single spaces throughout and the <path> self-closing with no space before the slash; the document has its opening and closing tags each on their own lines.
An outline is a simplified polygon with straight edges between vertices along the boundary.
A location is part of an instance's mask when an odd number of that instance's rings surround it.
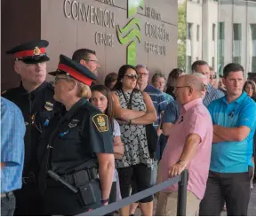
<svg viewBox="0 0 256 217">
<path fill-rule="evenodd" d="M 57 174 L 72 174 L 74 168 L 89 159 L 97 162 L 95 153 L 114 152 L 108 116 L 85 98 L 68 112 L 56 113 L 42 134 L 39 146 L 40 169 L 45 172 L 52 169 Z"/>
</svg>

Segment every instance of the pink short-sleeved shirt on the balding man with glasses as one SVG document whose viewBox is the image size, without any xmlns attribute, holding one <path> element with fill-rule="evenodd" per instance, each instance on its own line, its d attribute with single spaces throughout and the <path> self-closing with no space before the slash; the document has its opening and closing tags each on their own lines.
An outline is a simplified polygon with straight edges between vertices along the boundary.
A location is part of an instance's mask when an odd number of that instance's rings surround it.
<svg viewBox="0 0 256 217">
<path fill-rule="evenodd" d="M 186 137 L 197 134 L 201 137 L 196 154 L 188 163 L 188 190 L 197 198 L 204 198 L 206 182 L 209 174 L 212 150 L 212 118 L 201 98 L 193 100 L 180 108 L 180 117 L 173 125 L 162 157 L 162 177 L 168 180 L 169 167 L 175 164 L 183 151 Z M 174 184 L 164 191 L 178 190 Z"/>
</svg>

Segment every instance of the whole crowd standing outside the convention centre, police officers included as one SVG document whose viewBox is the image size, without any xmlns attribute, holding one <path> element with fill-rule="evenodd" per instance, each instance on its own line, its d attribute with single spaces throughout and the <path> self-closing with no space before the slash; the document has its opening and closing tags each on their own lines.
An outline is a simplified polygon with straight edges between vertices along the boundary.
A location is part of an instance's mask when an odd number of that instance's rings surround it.
<svg viewBox="0 0 256 217">
<path fill-rule="evenodd" d="M 256 86 L 230 63 L 203 60 L 165 80 L 120 66 L 97 81 L 96 52 L 60 54 L 46 79 L 48 42 L 8 50 L 20 86 L 1 97 L 1 214 L 76 215 L 127 198 L 188 169 L 187 215 L 247 215 L 253 189 Z M 254 136 L 254 137 L 253 137 Z M 156 215 L 176 215 L 178 186 L 156 195 Z M 151 195 L 121 208 L 153 213 Z M 108 213 L 107 215 L 114 215 Z"/>
</svg>

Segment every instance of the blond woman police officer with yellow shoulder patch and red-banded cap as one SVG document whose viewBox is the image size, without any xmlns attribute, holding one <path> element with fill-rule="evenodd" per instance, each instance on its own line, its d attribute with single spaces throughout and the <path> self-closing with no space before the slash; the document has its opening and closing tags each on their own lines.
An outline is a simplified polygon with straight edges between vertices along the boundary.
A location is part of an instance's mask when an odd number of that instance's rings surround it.
<svg viewBox="0 0 256 217">
<path fill-rule="evenodd" d="M 115 169 L 112 130 L 108 116 L 86 99 L 95 74 L 64 55 L 50 74 L 56 76 L 54 99 L 64 106 L 39 142 L 42 210 L 76 215 L 108 205 Z"/>
</svg>

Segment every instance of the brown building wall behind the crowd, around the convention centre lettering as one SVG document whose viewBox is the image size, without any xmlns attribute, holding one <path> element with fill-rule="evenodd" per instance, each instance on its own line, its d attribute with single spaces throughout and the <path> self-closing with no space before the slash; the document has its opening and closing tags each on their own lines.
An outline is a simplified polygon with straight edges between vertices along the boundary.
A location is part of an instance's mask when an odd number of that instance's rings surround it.
<svg viewBox="0 0 256 217">
<path fill-rule="evenodd" d="M 137 9 L 137 13 L 129 19 L 127 18 L 128 1 L 132 2 L 131 0 L 3 0 L 2 16 L 4 21 L 2 18 L 2 28 L 5 27 L 7 29 L 4 34 L 2 33 L 2 44 L 5 45 L 4 50 L 35 38 L 46 39 L 50 42 L 47 48 L 47 54 L 51 58 L 47 65 L 49 72 L 56 69 L 60 53 L 71 57 L 76 49 L 88 48 L 96 50 L 101 65 L 99 80 L 103 81 L 106 74 L 118 72 L 119 67 L 126 64 L 127 44 L 121 44 L 118 41 L 116 26 L 124 27 L 129 20 L 137 18 L 139 19 L 140 27 L 132 25 L 127 30 L 129 32 L 132 28 L 137 28 L 140 32 L 140 43 L 135 36 L 132 38 L 137 42 L 136 64 L 147 65 L 151 74 L 160 71 L 167 76 L 174 67 L 177 67 L 177 1 L 157 0 L 156 2 L 156 0 L 143 0 L 143 9 Z M 77 7 L 78 18 L 76 18 Z M 147 7 L 156 10 L 161 19 L 146 16 Z M 80 12 L 81 8 L 84 8 L 82 12 L 87 13 L 88 17 L 81 15 L 83 14 Z M 108 14 L 114 15 L 113 22 L 108 22 L 108 19 L 104 19 L 107 27 L 104 26 L 104 23 L 96 24 L 97 21 L 95 21 L 94 15 L 90 14 L 90 12 L 94 12 L 95 8 L 100 12 L 107 11 Z M 28 25 L 21 25 L 20 23 Z M 147 36 L 146 23 L 162 27 L 165 33 L 168 33 L 169 40 Z M 96 42 L 95 35 L 97 34 L 98 41 L 99 35 L 110 35 L 111 44 L 105 45 Z M 147 50 L 145 47 L 146 42 L 153 43 L 154 46 L 156 44 L 161 46 L 165 50 L 165 55 L 163 54 L 164 52 L 159 55 L 154 50 Z M 13 87 L 14 83 L 19 81 L 19 78 L 13 72 L 12 57 L 3 56 L 6 63 L 4 65 L 6 73 L 2 74 L 4 78 L 4 80 L 2 79 L 2 86 L 6 89 Z M 12 74 L 12 79 L 8 79 L 9 72 Z M 47 79 L 51 80 L 52 78 L 49 76 Z"/>
</svg>

